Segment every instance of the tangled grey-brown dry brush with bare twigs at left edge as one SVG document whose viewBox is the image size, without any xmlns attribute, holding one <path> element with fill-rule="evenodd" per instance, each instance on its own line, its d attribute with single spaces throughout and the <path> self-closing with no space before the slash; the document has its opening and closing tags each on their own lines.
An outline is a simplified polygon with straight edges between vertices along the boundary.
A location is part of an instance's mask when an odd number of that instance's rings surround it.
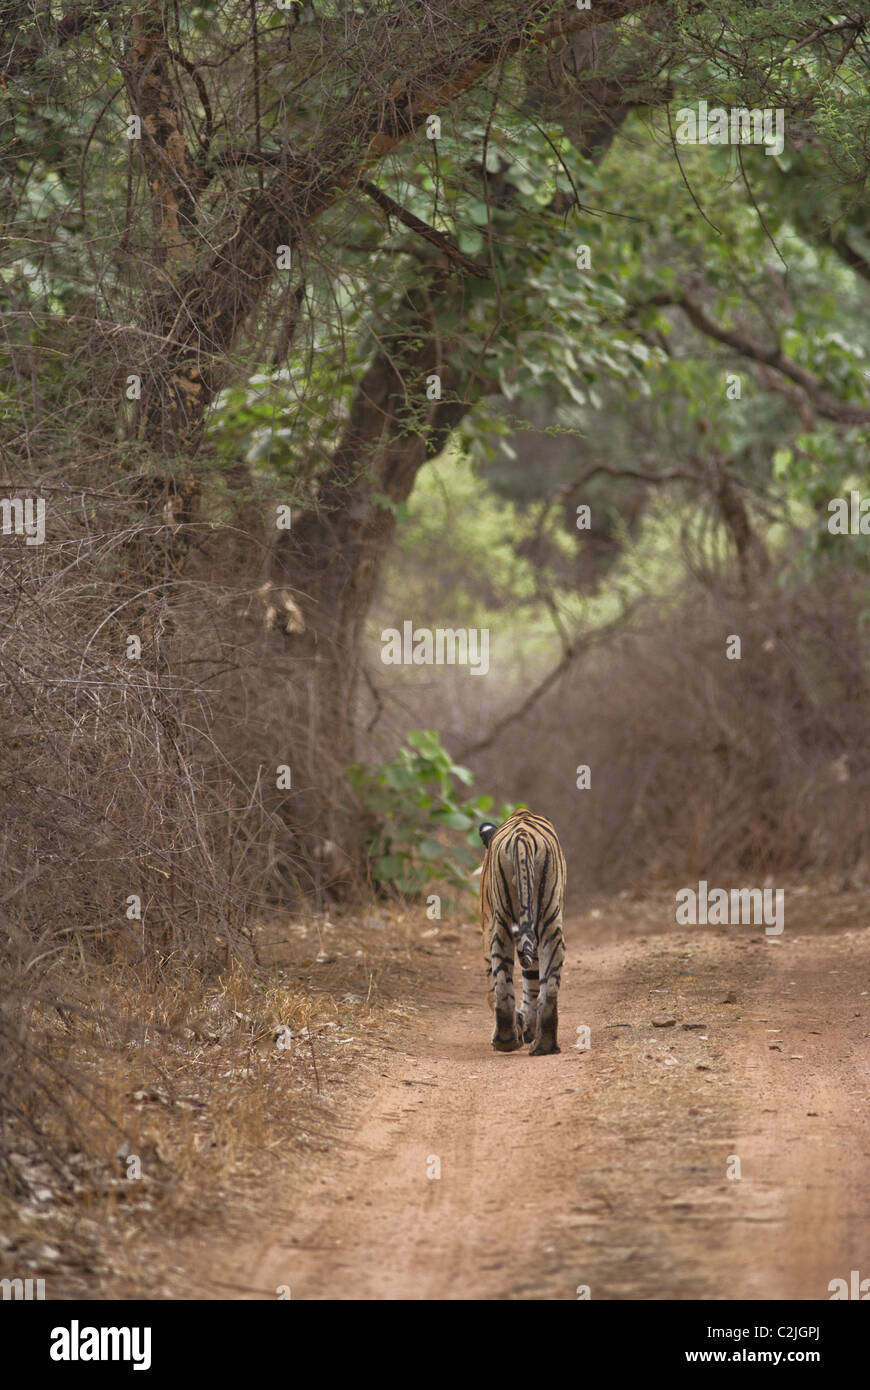
<svg viewBox="0 0 870 1390">
<path fill-rule="evenodd" d="M 47 492 L 44 543 L 0 539 L 0 1175 L 15 1190 L 11 1151 L 63 1169 L 100 1109 L 81 1049 L 60 1045 L 92 1015 L 108 1027 L 82 981 L 124 974 L 106 994 L 121 1033 L 172 981 L 196 1008 L 250 963 L 264 903 L 320 906 L 342 870 L 300 838 L 328 833 L 324 784 L 343 769 L 258 592 L 258 539 L 235 574 L 218 534 L 183 581 L 143 587 L 132 557 L 146 530 L 158 556 L 161 528 L 121 492 Z"/>
</svg>

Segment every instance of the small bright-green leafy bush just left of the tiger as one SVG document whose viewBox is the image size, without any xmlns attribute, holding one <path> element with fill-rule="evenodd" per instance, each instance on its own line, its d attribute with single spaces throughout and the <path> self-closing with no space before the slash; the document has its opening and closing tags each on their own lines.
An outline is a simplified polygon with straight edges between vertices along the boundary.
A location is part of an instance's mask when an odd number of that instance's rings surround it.
<svg viewBox="0 0 870 1390">
<path fill-rule="evenodd" d="M 456 783 L 473 781 L 432 728 L 411 730 L 406 744 L 377 767 L 354 763 L 350 780 L 361 795 L 372 831 L 366 847 L 372 881 L 409 897 L 443 880 L 473 891 L 478 824 L 492 813 L 492 796 L 460 799 Z M 499 823 L 516 808 L 502 806 Z M 464 841 L 463 841 L 464 837 Z"/>
</svg>

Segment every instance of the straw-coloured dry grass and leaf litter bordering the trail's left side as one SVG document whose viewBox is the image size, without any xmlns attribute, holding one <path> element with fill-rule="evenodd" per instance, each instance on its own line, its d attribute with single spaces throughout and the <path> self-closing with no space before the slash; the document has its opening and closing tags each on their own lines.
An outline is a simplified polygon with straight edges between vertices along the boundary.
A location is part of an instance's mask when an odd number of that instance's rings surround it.
<svg viewBox="0 0 870 1390">
<path fill-rule="evenodd" d="M 64 962 L 64 1016 L 31 1019 L 53 1104 L 35 1095 L 38 1136 L 13 1125 L 3 1275 L 44 1277 L 49 1298 L 183 1297 L 167 1250 L 253 1219 L 270 1183 L 332 1145 L 345 1087 L 407 1019 L 428 926 L 392 909 L 274 919 L 253 929 L 256 960 L 150 991 L 131 967 Z"/>
</svg>

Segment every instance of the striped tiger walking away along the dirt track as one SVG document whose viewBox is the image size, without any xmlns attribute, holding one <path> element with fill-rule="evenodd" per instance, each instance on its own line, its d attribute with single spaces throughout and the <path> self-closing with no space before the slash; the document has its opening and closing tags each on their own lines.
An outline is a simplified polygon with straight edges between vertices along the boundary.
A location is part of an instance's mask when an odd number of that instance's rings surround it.
<svg viewBox="0 0 870 1390">
<path fill-rule="evenodd" d="M 549 820 L 514 810 L 502 826 L 479 827 L 486 847 L 481 869 L 481 927 L 492 1045 L 513 1052 L 531 1042 L 530 1056 L 559 1052 L 559 981 L 564 960 L 561 912 L 566 867 Z M 514 949 L 523 967 L 523 1011 L 514 1004 Z"/>
</svg>

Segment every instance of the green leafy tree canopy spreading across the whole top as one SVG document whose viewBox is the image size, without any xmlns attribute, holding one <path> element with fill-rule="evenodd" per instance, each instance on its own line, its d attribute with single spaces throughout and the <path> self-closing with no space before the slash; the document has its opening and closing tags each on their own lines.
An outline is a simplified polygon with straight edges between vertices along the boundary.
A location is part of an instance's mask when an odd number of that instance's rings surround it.
<svg viewBox="0 0 870 1390">
<path fill-rule="evenodd" d="M 124 138 L 129 99 L 118 56 L 129 7 L 117 17 L 78 7 L 88 22 L 64 43 L 51 24 L 7 8 L 15 51 L 36 51 L 32 61 L 13 61 L 8 110 L 0 115 L 10 231 L 0 310 L 17 353 L 0 406 L 6 411 L 19 393 L 26 399 L 28 381 L 39 378 L 33 456 L 46 459 L 54 438 L 58 453 L 63 446 L 75 453 L 85 442 L 101 449 L 106 438 L 140 431 L 121 391 L 150 341 L 142 338 L 150 331 L 142 265 L 158 259 L 158 247 L 145 146 Z M 257 165 L 235 163 L 252 146 L 256 82 L 263 156 L 284 150 L 288 131 L 296 156 L 321 149 L 324 131 L 345 139 L 343 104 L 363 90 L 360 74 L 372 54 L 378 85 L 389 86 L 393 74 L 407 76 L 424 38 L 414 7 L 396 11 L 382 29 L 384 7 L 363 0 L 254 8 L 256 71 L 247 4 L 200 0 L 174 10 L 172 82 L 189 157 L 202 174 L 197 268 L 224 245 L 236 203 L 245 204 L 254 174 L 260 178 Z M 570 588 L 575 575 L 561 563 L 564 550 L 582 560 L 591 539 L 553 509 L 549 552 L 532 549 L 531 509 L 593 463 L 631 461 L 655 473 L 674 460 L 703 473 L 719 461 L 755 495 L 810 517 L 848 491 L 853 473 L 864 473 L 860 431 L 821 418 L 807 427 L 770 389 L 775 377 L 762 378 L 750 359 L 705 339 L 677 302 L 691 292 L 738 339 L 781 349 L 834 403 L 866 400 L 866 25 L 860 14 L 826 17 L 816 0 L 700 7 L 674 0 L 667 8 L 664 28 L 646 15 L 630 18 L 607 31 L 613 42 L 596 54 L 596 82 L 621 92 L 632 113 L 600 164 L 578 147 L 592 114 L 582 82 L 564 107 L 541 100 L 535 71 L 543 57 L 531 46 L 503 65 L 498 83 L 442 103 L 436 140 L 420 131 L 388 160 L 366 165 L 371 182 L 474 257 L 485 278 L 463 275 L 353 179 L 304 238 L 293 238 L 292 274 L 277 278 L 250 334 L 233 348 L 233 371 L 208 414 L 200 459 L 213 473 L 207 496 L 220 503 L 221 520 L 247 499 L 239 461 L 261 493 L 277 488 L 299 509 L 317 502 L 374 352 L 386 352 L 403 378 L 402 427 L 425 431 L 429 402 L 409 339 L 431 328 L 443 350 L 448 399 L 473 403 L 459 442 L 482 484 L 479 502 L 454 473 L 439 506 L 425 491 L 427 470 L 410 512 L 378 492 L 374 470 L 371 500 L 396 513 L 407 555 L 422 546 L 414 589 L 435 575 L 445 594 L 454 574 L 450 603 L 463 617 L 482 602 L 493 613 L 513 607 L 530 627 L 549 627 L 536 589 Z M 510 7 L 496 11 L 498 28 Z M 424 43 L 421 63 L 427 51 Z M 784 150 L 771 157 L 750 146 L 674 147 L 678 110 L 699 99 L 781 107 Z M 364 153 L 349 146 L 347 168 Z M 571 206 L 574 193 L 580 203 Z M 589 247 L 588 270 L 578 263 L 581 246 Z M 674 303 L 666 303 L 671 295 Z M 100 321 L 99 335 L 88 328 L 89 316 Z M 296 331 L 285 335 L 290 321 Z M 129 336 L 122 325 L 131 325 Z M 742 377 L 739 399 L 725 395 L 732 373 Z M 534 466 L 517 441 L 518 421 L 531 414 L 541 435 Z M 8 418 L 19 434 L 14 409 Z M 360 446 L 360 473 L 377 448 Z M 414 502 L 418 488 L 428 516 Z M 511 507 L 491 506 L 492 493 Z M 600 543 L 620 512 L 628 513 L 628 488 L 599 477 L 588 495 Z M 446 513 L 452 530 L 439 541 L 435 521 Z M 628 517 L 632 534 L 635 520 Z M 848 556 L 841 549 L 844 563 L 856 562 L 857 548 Z"/>
</svg>

